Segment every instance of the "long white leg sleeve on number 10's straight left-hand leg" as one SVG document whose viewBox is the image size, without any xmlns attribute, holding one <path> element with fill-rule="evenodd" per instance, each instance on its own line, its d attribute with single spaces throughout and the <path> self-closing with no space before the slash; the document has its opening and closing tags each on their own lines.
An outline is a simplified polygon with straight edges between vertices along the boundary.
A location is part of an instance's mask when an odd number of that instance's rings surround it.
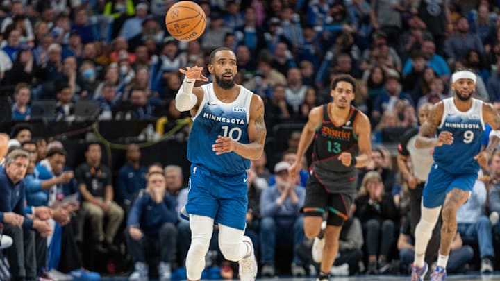
<svg viewBox="0 0 500 281">
<path fill-rule="evenodd" d="M 186 257 L 186 271 L 189 280 L 201 279 L 205 269 L 205 255 L 210 246 L 214 220 L 208 216 L 190 215 L 191 246 Z"/>
</svg>

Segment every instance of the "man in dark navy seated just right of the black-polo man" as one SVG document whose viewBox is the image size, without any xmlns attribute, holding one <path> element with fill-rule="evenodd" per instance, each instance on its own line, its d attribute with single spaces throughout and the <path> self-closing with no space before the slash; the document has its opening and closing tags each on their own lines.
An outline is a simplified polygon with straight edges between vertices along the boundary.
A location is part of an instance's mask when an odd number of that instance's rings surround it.
<svg viewBox="0 0 500 281">
<path fill-rule="evenodd" d="M 147 169 L 140 164 L 141 152 L 137 144 L 129 144 L 126 163 L 118 171 L 118 197 L 124 210 L 133 203 L 133 195 L 146 186 Z"/>
</svg>

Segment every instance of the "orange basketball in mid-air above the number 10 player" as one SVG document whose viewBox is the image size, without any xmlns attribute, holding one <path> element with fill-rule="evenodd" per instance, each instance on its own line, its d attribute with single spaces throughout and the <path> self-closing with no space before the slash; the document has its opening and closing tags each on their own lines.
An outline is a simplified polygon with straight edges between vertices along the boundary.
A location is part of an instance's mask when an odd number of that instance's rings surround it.
<svg viewBox="0 0 500 281">
<path fill-rule="evenodd" d="M 165 26 L 176 40 L 184 42 L 196 40 L 205 31 L 205 12 L 197 3 L 179 1 L 167 11 Z"/>
</svg>

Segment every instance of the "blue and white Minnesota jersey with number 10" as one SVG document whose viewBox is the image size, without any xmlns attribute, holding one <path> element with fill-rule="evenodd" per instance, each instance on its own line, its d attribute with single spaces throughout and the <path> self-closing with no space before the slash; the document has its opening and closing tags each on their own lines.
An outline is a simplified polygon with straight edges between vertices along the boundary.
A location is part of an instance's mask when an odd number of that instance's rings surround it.
<svg viewBox="0 0 500 281">
<path fill-rule="evenodd" d="M 223 103 L 215 96 L 213 83 L 201 88 L 203 101 L 192 118 L 188 160 L 220 175 L 231 176 L 246 172 L 250 168 L 250 160 L 234 152 L 216 155 L 212 151 L 212 145 L 219 135 L 231 137 L 242 144 L 249 143 L 247 127 L 253 93 L 240 86 L 238 98 L 232 103 Z"/>
</svg>

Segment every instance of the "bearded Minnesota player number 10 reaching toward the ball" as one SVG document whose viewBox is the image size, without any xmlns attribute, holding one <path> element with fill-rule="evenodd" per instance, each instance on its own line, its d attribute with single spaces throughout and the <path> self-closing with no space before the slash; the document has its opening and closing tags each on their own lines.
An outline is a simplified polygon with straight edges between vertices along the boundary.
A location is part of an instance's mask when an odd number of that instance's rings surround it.
<svg viewBox="0 0 500 281">
<path fill-rule="evenodd" d="M 192 163 L 188 203 L 191 245 L 186 257 L 188 280 L 199 280 L 214 223 L 219 224 L 219 248 L 224 257 L 240 263 L 240 278 L 253 281 L 257 263 L 253 245 L 244 236 L 247 216 L 247 169 L 263 154 L 266 136 L 264 103 L 256 94 L 235 85 L 236 56 L 221 47 L 210 54 L 207 81 L 202 67 L 179 69 L 185 79 L 176 95 L 176 108 L 190 111 L 188 139 Z"/>
</svg>

